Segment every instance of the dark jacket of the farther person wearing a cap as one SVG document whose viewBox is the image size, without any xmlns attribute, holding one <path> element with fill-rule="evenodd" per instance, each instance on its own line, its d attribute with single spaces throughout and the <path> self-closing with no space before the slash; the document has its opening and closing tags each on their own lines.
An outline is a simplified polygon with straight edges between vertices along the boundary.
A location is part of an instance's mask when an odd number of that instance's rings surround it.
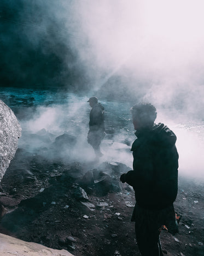
<svg viewBox="0 0 204 256">
<path fill-rule="evenodd" d="M 104 107 L 101 103 L 97 103 L 92 107 L 90 112 L 90 121 L 89 121 L 90 131 L 105 130 L 104 127 Z"/>
</svg>

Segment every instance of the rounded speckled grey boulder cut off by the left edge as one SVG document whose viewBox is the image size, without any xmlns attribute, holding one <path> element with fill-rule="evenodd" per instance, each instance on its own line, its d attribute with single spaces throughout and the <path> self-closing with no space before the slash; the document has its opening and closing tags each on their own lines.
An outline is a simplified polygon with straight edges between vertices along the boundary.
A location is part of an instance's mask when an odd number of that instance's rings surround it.
<svg viewBox="0 0 204 256">
<path fill-rule="evenodd" d="M 14 112 L 0 100 L 0 181 L 18 148 L 21 126 Z"/>
</svg>

